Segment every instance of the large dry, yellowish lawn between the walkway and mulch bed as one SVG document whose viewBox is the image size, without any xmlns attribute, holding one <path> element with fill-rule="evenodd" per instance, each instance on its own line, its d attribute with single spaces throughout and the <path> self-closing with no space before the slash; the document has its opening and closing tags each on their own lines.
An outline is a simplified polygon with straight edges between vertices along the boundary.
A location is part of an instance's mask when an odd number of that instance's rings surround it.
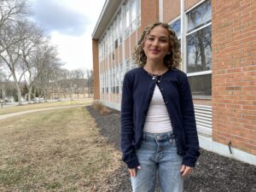
<svg viewBox="0 0 256 192">
<path fill-rule="evenodd" d="M 1 120 L 0 141 L 1 192 L 107 191 L 121 163 L 84 107 Z"/>
</svg>

